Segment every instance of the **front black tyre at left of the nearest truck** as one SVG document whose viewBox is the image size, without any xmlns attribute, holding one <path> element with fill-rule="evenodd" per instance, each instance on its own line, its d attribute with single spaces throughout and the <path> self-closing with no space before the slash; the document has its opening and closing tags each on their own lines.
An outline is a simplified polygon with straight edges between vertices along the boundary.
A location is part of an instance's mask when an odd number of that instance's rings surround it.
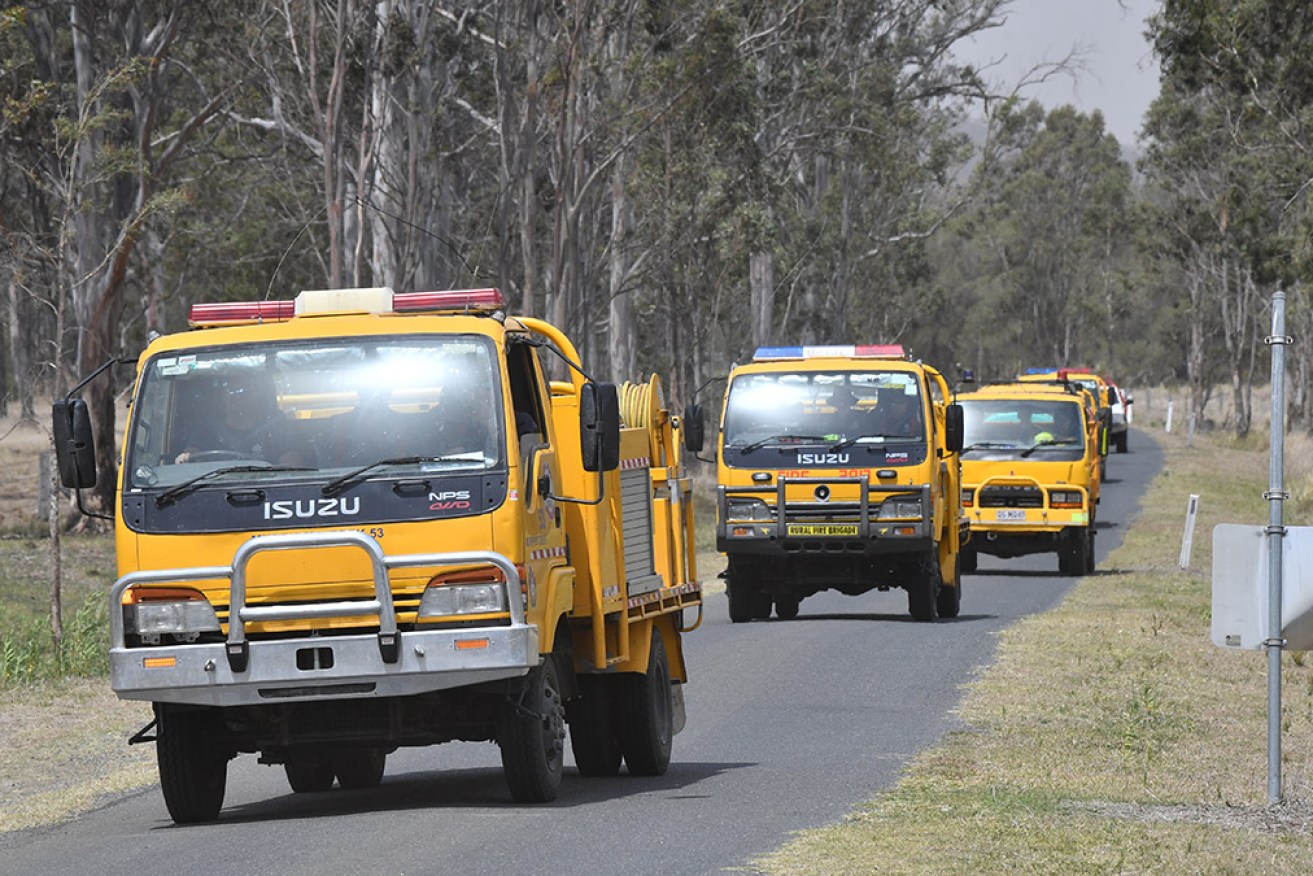
<svg viewBox="0 0 1313 876">
<path fill-rule="evenodd" d="M 210 738 L 210 713 L 159 704 L 155 716 L 155 758 L 169 817 L 180 825 L 214 821 L 223 808 L 228 753 Z"/>
</svg>

